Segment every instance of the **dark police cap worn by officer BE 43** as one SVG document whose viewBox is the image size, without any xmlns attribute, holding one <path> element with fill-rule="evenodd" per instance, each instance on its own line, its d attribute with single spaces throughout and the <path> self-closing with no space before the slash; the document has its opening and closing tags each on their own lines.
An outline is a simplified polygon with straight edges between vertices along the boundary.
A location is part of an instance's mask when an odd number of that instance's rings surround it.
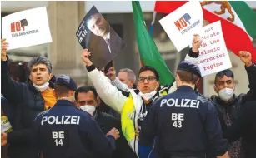
<svg viewBox="0 0 256 158">
<path fill-rule="evenodd" d="M 198 67 L 198 65 L 193 64 L 192 62 L 188 62 L 188 61 L 180 62 L 178 64 L 177 70 L 192 72 L 193 74 L 198 75 L 198 77 L 201 77 L 200 68 Z"/>
</svg>

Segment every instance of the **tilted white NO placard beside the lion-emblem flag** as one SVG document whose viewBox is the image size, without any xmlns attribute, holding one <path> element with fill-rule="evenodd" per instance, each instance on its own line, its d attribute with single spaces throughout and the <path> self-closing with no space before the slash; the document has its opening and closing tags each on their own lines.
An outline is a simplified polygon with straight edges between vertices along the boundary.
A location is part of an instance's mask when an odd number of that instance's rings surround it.
<svg viewBox="0 0 256 158">
<path fill-rule="evenodd" d="M 179 52 L 191 43 L 189 37 L 200 32 L 203 27 L 201 4 L 198 1 L 189 1 L 159 22 Z"/>
</svg>

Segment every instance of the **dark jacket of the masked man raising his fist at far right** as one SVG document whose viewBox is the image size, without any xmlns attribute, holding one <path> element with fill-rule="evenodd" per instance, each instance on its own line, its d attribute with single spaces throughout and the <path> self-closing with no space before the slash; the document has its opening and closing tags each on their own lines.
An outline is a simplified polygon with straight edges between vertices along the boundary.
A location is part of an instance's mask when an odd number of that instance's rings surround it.
<svg viewBox="0 0 256 158">
<path fill-rule="evenodd" d="M 233 101 L 229 103 L 225 103 L 222 101 L 218 96 L 211 96 L 211 100 L 213 101 L 214 105 L 217 106 L 218 109 L 218 117 L 221 123 L 222 129 L 226 129 L 227 126 L 225 125 L 223 115 L 225 112 L 228 112 L 233 116 L 233 121 L 238 119 L 239 111 L 244 102 L 246 101 L 253 101 L 256 98 L 256 65 L 253 63 L 252 66 L 246 67 L 245 70 L 248 74 L 248 81 L 249 81 L 249 91 L 247 94 L 240 94 L 239 96 L 233 97 Z"/>
</svg>

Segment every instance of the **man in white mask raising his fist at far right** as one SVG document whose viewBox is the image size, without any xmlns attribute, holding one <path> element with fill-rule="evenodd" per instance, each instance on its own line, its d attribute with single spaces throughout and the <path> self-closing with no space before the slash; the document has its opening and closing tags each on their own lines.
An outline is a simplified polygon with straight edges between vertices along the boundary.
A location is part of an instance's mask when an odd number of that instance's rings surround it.
<svg viewBox="0 0 256 158">
<path fill-rule="evenodd" d="M 198 54 L 193 54 L 195 57 Z M 246 101 L 252 101 L 256 98 L 256 66 L 252 62 L 252 56 L 250 52 L 239 52 L 240 60 L 245 64 L 245 70 L 248 74 L 248 87 L 250 90 L 247 94 L 240 94 L 236 96 L 234 75 L 231 70 L 224 70 L 218 72 L 215 76 L 214 91 L 218 96 L 211 96 L 211 100 L 218 109 L 218 117 L 221 123 L 222 129 L 225 130 L 228 126 L 233 125 L 233 121 L 238 119 L 238 113 L 241 106 Z M 232 158 L 239 158 L 243 156 L 242 152 L 242 139 L 229 143 L 228 153 Z"/>
</svg>

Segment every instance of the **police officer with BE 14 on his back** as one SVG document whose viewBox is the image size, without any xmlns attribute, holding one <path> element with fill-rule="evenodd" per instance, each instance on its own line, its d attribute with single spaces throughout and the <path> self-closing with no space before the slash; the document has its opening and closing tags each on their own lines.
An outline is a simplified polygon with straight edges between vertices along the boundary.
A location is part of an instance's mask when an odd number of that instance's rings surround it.
<svg viewBox="0 0 256 158">
<path fill-rule="evenodd" d="M 74 106 L 76 89 L 71 77 L 58 77 L 55 82 L 57 103 L 34 121 L 33 140 L 43 158 L 108 157 L 115 149 L 119 132 L 104 136 L 93 117 Z"/>
</svg>

